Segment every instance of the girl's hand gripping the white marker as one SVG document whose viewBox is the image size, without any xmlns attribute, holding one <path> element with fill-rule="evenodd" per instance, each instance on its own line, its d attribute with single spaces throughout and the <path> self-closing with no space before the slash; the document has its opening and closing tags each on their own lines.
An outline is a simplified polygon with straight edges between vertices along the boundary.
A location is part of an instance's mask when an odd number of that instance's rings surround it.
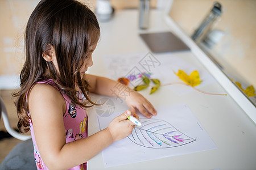
<svg viewBox="0 0 256 170">
<path fill-rule="evenodd" d="M 136 126 L 133 122 L 130 120 L 127 120 L 127 117 L 129 117 L 131 112 L 127 110 L 125 113 L 119 115 L 118 117 L 115 117 L 109 124 L 108 129 L 110 134 L 112 135 L 113 142 L 121 140 L 128 135 L 131 134 L 131 131 L 133 131 L 133 128 Z M 139 118 L 136 115 L 134 117 Z"/>
</svg>

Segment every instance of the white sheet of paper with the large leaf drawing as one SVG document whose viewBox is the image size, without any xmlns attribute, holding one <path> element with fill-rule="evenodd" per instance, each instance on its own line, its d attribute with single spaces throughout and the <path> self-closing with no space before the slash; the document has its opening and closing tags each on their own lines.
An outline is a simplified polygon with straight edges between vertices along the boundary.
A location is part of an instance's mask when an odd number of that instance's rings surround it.
<svg viewBox="0 0 256 170">
<path fill-rule="evenodd" d="M 102 151 L 105 167 L 217 148 L 187 105 L 170 105 L 156 110 L 158 115 L 151 119 L 139 114 L 142 126 L 136 126 L 129 137 Z M 122 112 L 114 112 L 109 117 L 97 116 L 99 129 L 108 127 L 119 114 Z"/>
</svg>

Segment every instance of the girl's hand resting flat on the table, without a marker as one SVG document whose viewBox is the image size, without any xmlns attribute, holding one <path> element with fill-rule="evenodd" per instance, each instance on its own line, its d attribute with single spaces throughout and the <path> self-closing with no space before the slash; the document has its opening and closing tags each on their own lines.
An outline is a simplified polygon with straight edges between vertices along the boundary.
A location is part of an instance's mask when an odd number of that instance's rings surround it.
<svg viewBox="0 0 256 170">
<path fill-rule="evenodd" d="M 153 105 L 137 91 L 132 91 L 129 96 L 126 96 L 125 101 L 132 115 L 136 113 L 137 108 L 147 118 L 151 118 L 151 115 L 156 116 L 156 109 Z"/>
</svg>

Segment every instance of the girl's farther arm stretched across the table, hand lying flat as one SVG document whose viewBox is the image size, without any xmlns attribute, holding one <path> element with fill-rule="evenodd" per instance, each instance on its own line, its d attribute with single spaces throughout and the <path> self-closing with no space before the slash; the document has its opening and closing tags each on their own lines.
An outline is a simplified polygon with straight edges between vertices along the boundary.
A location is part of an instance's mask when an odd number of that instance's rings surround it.
<svg viewBox="0 0 256 170">
<path fill-rule="evenodd" d="M 119 82 L 102 76 L 84 74 L 84 79 L 91 87 L 90 92 L 121 97 L 126 101 L 126 104 L 133 114 L 136 113 L 135 109 L 137 108 L 139 112 L 148 118 L 151 118 L 151 115 L 156 115 L 156 110 L 153 105 L 137 91 L 131 90 L 129 87 Z"/>
</svg>

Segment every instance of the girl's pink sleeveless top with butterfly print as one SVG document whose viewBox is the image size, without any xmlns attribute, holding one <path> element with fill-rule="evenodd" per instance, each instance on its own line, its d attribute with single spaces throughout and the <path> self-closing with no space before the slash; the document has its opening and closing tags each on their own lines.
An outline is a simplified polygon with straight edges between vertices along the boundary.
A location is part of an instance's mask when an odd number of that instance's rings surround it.
<svg viewBox="0 0 256 170">
<path fill-rule="evenodd" d="M 44 80 L 42 82 L 38 83 L 44 83 L 49 84 L 57 89 L 55 86 L 55 83 L 51 80 Z M 77 141 L 79 139 L 83 139 L 87 137 L 87 114 L 84 109 L 82 109 L 79 105 L 76 105 L 69 99 L 69 97 L 63 93 L 61 93 L 65 99 L 66 103 L 66 112 L 63 116 L 65 131 L 66 131 L 66 143 Z M 30 132 L 32 141 L 34 144 L 34 154 L 35 154 L 35 162 L 36 167 L 38 169 L 48 169 L 46 165 L 43 162 L 43 159 L 40 156 L 40 152 L 38 150 L 38 146 L 36 145 L 35 141 L 35 134 L 34 134 L 34 128 L 33 123 L 30 120 Z M 71 158 L 72 159 L 72 158 Z M 86 163 L 77 165 L 76 167 L 71 168 L 72 170 L 75 169 L 86 169 Z"/>
</svg>

